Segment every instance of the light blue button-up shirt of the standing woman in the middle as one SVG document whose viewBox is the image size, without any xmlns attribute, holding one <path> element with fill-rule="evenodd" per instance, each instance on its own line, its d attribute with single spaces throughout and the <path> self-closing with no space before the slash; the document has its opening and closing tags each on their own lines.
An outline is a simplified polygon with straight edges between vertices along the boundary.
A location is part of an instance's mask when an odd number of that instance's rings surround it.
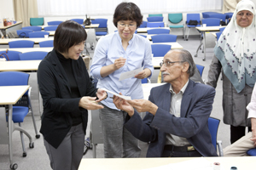
<svg viewBox="0 0 256 170">
<path fill-rule="evenodd" d="M 115 59 L 123 57 L 126 59 L 125 65 L 119 70 L 113 71 L 107 77 L 101 76 L 102 66 L 112 65 Z M 120 74 L 126 71 L 133 71 L 143 67 L 148 68 L 151 74 L 154 71 L 152 64 L 152 50 L 147 38 L 133 34 L 126 50 L 122 46 L 122 39 L 116 31 L 108 36 L 102 37 L 97 42 L 95 53 L 90 66 L 90 75 L 98 79 L 97 88 L 107 88 L 117 94 L 122 93 L 131 96 L 131 99 L 143 99 L 142 80 L 135 77 L 119 81 Z M 112 94 L 108 94 L 108 99 L 102 100 L 103 105 L 115 109 Z"/>
</svg>

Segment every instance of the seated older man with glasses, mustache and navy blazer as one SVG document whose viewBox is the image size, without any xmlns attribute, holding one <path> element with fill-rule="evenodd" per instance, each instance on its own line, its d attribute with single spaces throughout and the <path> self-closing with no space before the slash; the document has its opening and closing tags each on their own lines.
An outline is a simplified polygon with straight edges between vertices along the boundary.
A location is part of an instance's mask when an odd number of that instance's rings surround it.
<svg viewBox="0 0 256 170">
<path fill-rule="evenodd" d="M 169 51 L 160 66 L 166 84 L 152 88 L 148 100 L 114 96 L 116 107 L 128 113 L 125 128 L 150 142 L 148 157 L 218 156 L 207 124 L 214 88 L 189 79 L 195 63 L 187 50 Z"/>
</svg>

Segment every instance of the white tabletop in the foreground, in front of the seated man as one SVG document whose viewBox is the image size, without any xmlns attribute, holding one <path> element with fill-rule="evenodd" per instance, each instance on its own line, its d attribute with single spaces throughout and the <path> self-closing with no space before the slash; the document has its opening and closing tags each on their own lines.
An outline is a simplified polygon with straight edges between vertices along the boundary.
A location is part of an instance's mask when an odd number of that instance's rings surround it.
<svg viewBox="0 0 256 170">
<path fill-rule="evenodd" d="M 203 158 L 203 157 L 201 157 Z M 134 170 L 134 169 L 144 169 L 152 167 L 160 167 L 168 164 L 175 165 L 175 163 L 182 162 L 184 167 L 186 166 L 186 161 L 193 161 L 193 159 L 199 158 L 84 158 L 82 159 L 79 170 L 84 169 L 104 169 L 104 170 Z M 248 170 L 254 169 L 256 163 L 256 158 L 254 156 L 242 156 L 242 157 L 205 157 L 206 161 L 209 161 L 208 168 L 200 168 L 201 170 L 213 169 L 213 162 L 220 163 L 220 170 L 230 170 L 230 167 L 237 167 L 238 170 Z M 158 168 L 165 169 L 165 168 Z M 170 168 L 168 168 L 170 169 Z M 192 170 L 197 170 L 197 166 L 191 166 Z M 172 170 L 184 170 L 180 168 L 172 168 Z"/>
</svg>

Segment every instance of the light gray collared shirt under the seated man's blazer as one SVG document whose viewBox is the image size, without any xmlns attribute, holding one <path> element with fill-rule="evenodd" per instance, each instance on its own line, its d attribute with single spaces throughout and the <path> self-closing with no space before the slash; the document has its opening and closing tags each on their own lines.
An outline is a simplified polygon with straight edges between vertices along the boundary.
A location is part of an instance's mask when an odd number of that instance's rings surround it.
<svg viewBox="0 0 256 170">
<path fill-rule="evenodd" d="M 170 92 L 172 94 L 170 113 L 176 117 L 180 117 L 183 93 L 185 92 L 188 84 L 189 84 L 189 81 L 183 86 L 183 88 L 179 91 L 178 94 L 176 94 L 173 91 L 172 84 L 170 85 Z M 176 135 L 168 133 L 168 134 L 166 134 L 166 144 L 172 144 L 175 146 L 183 146 L 183 145 L 189 145 L 189 142 L 185 138 L 178 137 Z"/>
</svg>

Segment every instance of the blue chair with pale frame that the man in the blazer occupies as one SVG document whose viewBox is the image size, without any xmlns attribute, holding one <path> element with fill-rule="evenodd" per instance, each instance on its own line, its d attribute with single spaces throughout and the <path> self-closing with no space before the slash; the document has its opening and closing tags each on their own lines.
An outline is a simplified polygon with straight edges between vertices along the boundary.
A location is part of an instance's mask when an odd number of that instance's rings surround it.
<svg viewBox="0 0 256 170">
<path fill-rule="evenodd" d="M 217 150 L 217 146 L 218 146 L 219 156 L 224 156 L 223 149 L 222 149 L 222 143 L 219 140 L 217 141 L 219 122 L 220 122 L 220 120 L 213 118 L 213 117 L 209 117 L 208 118 L 208 128 L 211 133 L 212 144 L 214 145 L 216 150 Z"/>
</svg>

